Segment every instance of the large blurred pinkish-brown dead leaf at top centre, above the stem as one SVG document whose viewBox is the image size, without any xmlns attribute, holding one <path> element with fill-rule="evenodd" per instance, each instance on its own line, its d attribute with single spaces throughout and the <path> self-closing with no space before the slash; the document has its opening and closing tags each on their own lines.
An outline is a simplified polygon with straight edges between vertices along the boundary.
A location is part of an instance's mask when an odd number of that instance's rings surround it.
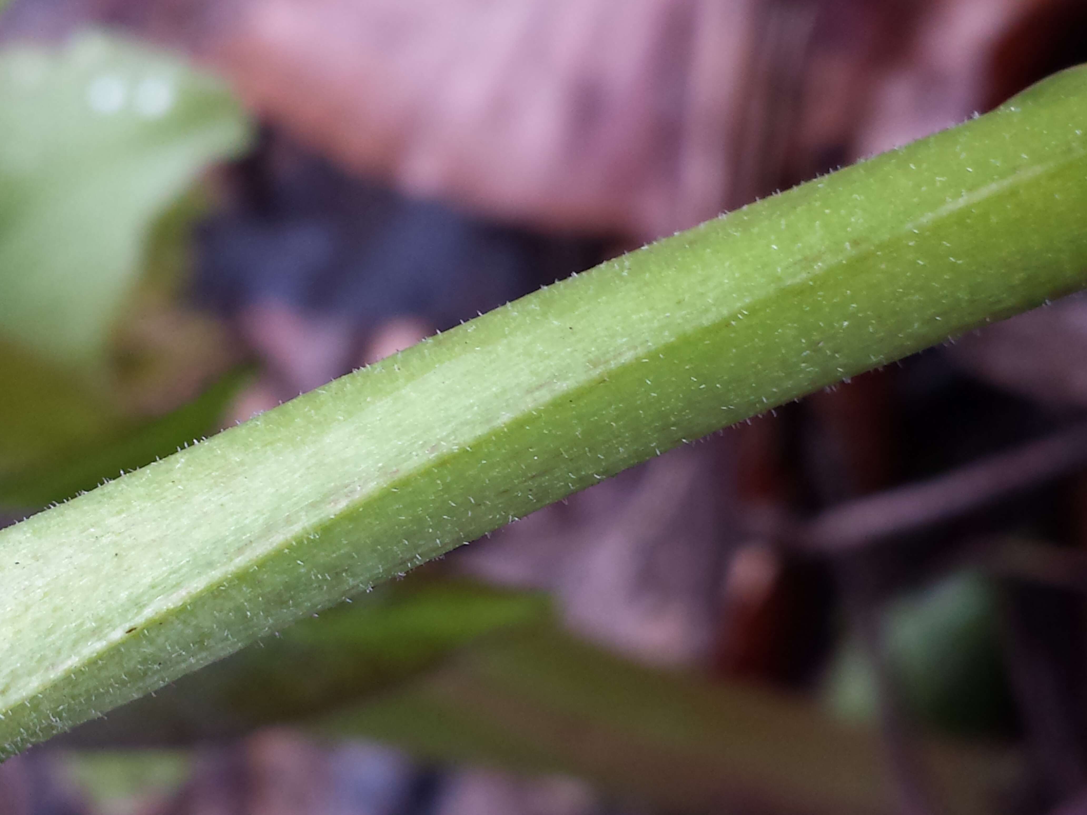
<svg viewBox="0 0 1087 815">
<path fill-rule="evenodd" d="M 715 214 L 753 0 L 266 0 L 213 59 L 349 166 L 536 225 Z"/>
</svg>

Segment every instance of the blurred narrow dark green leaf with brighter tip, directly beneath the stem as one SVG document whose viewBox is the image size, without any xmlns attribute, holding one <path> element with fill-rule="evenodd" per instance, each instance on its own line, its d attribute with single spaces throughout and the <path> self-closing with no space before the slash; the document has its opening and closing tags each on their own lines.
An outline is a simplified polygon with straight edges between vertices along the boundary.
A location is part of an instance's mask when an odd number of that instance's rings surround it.
<svg viewBox="0 0 1087 815">
<path fill-rule="evenodd" d="M 403 682 L 455 650 L 547 615 L 539 594 L 410 580 L 304 619 L 89 722 L 66 743 L 140 747 L 240 736 Z"/>
</svg>

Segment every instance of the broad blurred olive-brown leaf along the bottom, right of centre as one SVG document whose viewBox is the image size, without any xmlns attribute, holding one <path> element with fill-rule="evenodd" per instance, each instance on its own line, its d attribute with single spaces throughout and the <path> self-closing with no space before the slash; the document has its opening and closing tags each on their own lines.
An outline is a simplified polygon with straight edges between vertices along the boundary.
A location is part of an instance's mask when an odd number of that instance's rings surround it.
<svg viewBox="0 0 1087 815">
<path fill-rule="evenodd" d="M 788 694 L 649 669 L 553 628 L 482 642 L 323 729 L 570 773 L 674 811 L 899 811 L 876 730 Z M 1008 753 L 934 740 L 919 760 L 940 812 L 992 812 L 1017 773 Z"/>
</svg>

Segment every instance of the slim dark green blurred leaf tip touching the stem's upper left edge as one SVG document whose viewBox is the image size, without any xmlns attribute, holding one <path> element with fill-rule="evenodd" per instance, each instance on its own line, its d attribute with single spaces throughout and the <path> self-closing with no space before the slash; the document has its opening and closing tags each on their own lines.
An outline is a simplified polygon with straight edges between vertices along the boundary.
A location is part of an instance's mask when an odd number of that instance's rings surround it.
<svg viewBox="0 0 1087 815">
<path fill-rule="evenodd" d="M 235 372 L 165 416 L 116 427 L 22 468 L 0 471 L 0 506 L 59 503 L 177 452 L 218 429 L 227 405 L 249 379 L 248 373 Z"/>
</svg>

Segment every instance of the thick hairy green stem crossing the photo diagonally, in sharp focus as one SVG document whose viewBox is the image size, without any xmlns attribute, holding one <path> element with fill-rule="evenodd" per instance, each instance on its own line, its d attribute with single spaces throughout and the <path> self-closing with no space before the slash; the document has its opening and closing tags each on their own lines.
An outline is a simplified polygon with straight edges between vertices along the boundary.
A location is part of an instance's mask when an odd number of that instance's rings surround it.
<svg viewBox="0 0 1087 815">
<path fill-rule="evenodd" d="M 0 532 L 0 756 L 652 455 L 1087 284 L 1087 72 Z"/>
</svg>

